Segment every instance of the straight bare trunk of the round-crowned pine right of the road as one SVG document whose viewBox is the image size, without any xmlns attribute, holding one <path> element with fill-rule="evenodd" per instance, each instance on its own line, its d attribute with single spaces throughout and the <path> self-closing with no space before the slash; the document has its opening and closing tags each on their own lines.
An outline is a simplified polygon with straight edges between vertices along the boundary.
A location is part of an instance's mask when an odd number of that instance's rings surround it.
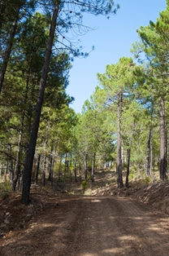
<svg viewBox="0 0 169 256">
<path fill-rule="evenodd" d="M 123 188 L 122 178 L 122 154 L 121 154 L 121 114 L 122 114 L 122 95 L 119 95 L 118 103 L 118 131 L 117 131 L 117 185 L 118 188 Z"/>
</svg>

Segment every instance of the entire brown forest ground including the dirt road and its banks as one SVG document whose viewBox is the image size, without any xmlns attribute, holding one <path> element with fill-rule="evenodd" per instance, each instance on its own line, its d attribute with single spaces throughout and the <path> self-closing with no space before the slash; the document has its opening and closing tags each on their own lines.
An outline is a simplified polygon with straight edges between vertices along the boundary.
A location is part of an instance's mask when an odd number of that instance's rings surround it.
<svg viewBox="0 0 169 256">
<path fill-rule="evenodd" d="M 118 189 L 105 171 L 85 189 L 32 184 L 30 198 L 22 205 L 15 192 L 0 201 L 0 255 L 168 255 L 168 182 Z"/>
</svg>

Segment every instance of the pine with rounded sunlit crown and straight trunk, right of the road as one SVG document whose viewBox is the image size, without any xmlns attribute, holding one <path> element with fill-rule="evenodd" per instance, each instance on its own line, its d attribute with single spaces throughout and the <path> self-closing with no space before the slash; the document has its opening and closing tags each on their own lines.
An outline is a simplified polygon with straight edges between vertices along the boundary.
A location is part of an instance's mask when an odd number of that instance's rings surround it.
<svg viewBox="0 0 169 256">
<path fill-rule="evenodd" d="M 121 137 L 121 121 L 122 111 L 124 108 L 124 99 L 131 95 L 130 88 L 134 80 L 132 69 L 134 64 L 131 58 L 121 58 L 118 64 L 106 66 L 106 73 L 98 73 L 98 81 L 103 90 L 106 91 L 105 103 L 107 108 L 116 107 L 117 113 L 117 184 L 118 188 L 123 188 L 122 178 L 122 137 Z"/>
</svg>

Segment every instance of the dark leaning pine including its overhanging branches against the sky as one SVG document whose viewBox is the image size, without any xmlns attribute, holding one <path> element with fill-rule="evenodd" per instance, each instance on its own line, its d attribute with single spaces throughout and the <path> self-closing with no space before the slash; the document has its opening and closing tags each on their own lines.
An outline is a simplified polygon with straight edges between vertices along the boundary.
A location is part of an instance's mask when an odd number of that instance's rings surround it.
<svg viewBox="0 0 169 256">
<path fill-rule="evenodd" d="M 28 148 L 25 155 L 24 171 L 23 171 L 23 192 L 22 202 L 25 205 L 29 203 L 29 192 L 31 186 L 32 163 L 37 143 L 38 127 L 41 117 L 41 108 L 43 104 L 45 84 L 50 66 L 50 55 L 52 51 L 67 48 L 75 56 L 84 55 L 80 49 L 76 49 L 73 43 L 67 39 L 69 31 L 78 33 L 86 33 L 89 28 L 83 24 L 83 13 L 92 15 L 111 15 L 115 14 L 119 6 L 114 7 L 112 0 L 76 0 L 76 1 L 41 1 L 41 8 L 44 9 L 46 15 L 50 17 L 50 33 L 46 42 L 45 58 L 41 71 L 41 79 L 39 83 L 39 95 L 37 96 L 37 105 L 32 124 L 31 135 Z M 57 38 L 57 40 L 54 40 Z M 69 37 L 70 38 L 70 37 Z M 56 43 L 54 43 L 56 42 Z M 57 43 L 61 43 L 60 46 Z M 65 43 L 64 43 L 65 42 Z"/>
</svg>

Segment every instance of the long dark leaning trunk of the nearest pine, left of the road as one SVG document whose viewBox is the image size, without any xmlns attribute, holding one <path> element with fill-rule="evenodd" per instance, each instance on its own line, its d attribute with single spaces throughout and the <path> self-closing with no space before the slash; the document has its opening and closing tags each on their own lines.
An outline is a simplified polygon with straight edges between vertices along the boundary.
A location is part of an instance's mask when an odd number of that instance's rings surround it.
<svg viewBox="0 0 169 256">
<path fill-rule="evenodd" d="M 37 106 L 35 109 L 35 116 L 32 124 L 31 136 L 28 144 L 28 149 L 25 156 L 24 171 L 23 171 L 23 191 L 22 191 L 22 203 L 28 205 L 29 203 L 29 193 L 31 187 L 31 174 L 32 174 L 32 163 L 35 154 L 35 148 L 37 144 L 37 134 L 39 129 L 41 108 L 43 104 L 43 97 L 45 92 L 45 83 L 47 80 L 48 68 L 50 65 L 50 55 L 52 51 L 52 46 L 54 42 L 54 33 L 56 29 L 56 19 L 58 16 L 58 1 L 54 2 L 54 13 L 50 23 L 50 34 L 45 51 L 45 60 L 41 73 L 41 81 L 39 86 L 39 95 L 37 98 Z"/>
</svg>

